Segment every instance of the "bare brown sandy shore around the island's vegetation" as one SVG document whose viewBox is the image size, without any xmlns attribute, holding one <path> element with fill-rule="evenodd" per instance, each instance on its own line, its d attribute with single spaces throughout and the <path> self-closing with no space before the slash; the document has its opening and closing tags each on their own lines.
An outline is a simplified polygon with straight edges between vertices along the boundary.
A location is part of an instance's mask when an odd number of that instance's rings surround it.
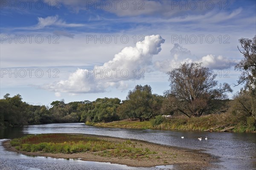
<svg viewBox="0 0 256 170">
<path fill-rule="evenodd" d="M 105 139 L 110 142 L 125 142 L 127 139 L 97 136 L 97 135 L 85 135 L 94 136 L 100 139 Z M 52 158 L 64 158 L 64 159 L 81 159 L 84 161 L 99 161 L 99 162 L 111 162 L 116 164 L 125 164 L 131 167 L 154 167 L 157 165 L 174 164 L 175 169 L 186 170 L 186 169 L 205 169 L 212 167 L 211 161 L 216 161 L 212 156 L 207 153 L 201 153 L 199 150 L 189 150 L 178 147 L 169 147 L 160 144 L 153 144 L 150 142 L 131 140 L 131 142 L 137 142 L 140 148 L 145 149 L 146 147 L 151 151 L 157 152 L 156 154 L 150 154 L 149 158 L 137 158 L 131 159 L 128 157 L 103 157 L 93 152 L 84 153 L 43 153 L 43 152 L 26 152 L 16 150 L 15 147 L 10 145 L 10 141 L 3 142 L 3 146 L 8 151 L 22 153 L 27 156 L 48 156 Z"/>
</svg>

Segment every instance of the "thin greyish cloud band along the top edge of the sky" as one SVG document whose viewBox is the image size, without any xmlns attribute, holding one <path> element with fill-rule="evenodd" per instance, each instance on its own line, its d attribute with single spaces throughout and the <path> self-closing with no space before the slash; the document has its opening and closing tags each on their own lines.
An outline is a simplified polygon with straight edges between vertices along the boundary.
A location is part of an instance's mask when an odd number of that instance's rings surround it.
<svg viewBox="0 0 256 170">
<path fill-rule="evenodd" d="M 49 0 L 45 0 L 48 3 Z M 51 0 L 54 3 L 54 0 Z M 210 0 L 208 0 L 210 1 Z M 119 17 L 135 17 L 135 16 L 157 16 L 157 17 L 177 17 L 187 16 L 190 14 L 202 14 L 213 9 L 218 10 L 219 4 L 214 1 L 209 2 L 189 2 L 189 1 L 155 1 L 155 0 L 143 0 L 143 1 L 83 1 L 83 0 L 59 0 L 59 3 L 63 4 L 71 11 L 79 13 L 80 10 L 93 11 L 104 10 L 106 12 L 116 14 Z M 209 3 L 209 4 L 208 4 Z M 211 8 L 209 6 L 215 6 Z M 186 12 L 184 12 L 186 11 Z"/>
</svg>

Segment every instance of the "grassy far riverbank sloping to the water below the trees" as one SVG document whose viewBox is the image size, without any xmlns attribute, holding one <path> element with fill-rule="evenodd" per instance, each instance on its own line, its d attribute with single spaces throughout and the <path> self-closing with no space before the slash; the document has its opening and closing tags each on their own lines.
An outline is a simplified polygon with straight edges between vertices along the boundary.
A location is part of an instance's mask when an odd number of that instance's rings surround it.
<svg viewBox="0 0 256 170">
<path fill-rule="evenodd" d="M 254 118 L 252 117 L 252 120 Z M 154 120 L 154 119 L 152 119 Z M 138 128 L 138 129 L 157 129 L 157 130 L 197 130 L 197 131 L 216 131 L 216 132 L 250 132 L 256 133 L 254 123 L 232 122 L 230 117 L 225 114 L 211 114 L 207 116 L 188 118 L 180 116 L 172 119 L 163 119 L 160 124 L 154 124 L 151 121 L 130 121 L 128 119 L 114 121 L 114 122 L 101 122 L 101 123 L 86 123 L 86 125 L 93 125 L 97 127 L 119 127 L 119 128 Z M 255 121 L 255 120 L 254 120 Z M 253 121 L 250 121 L 253 122 Z"/>
</svg>

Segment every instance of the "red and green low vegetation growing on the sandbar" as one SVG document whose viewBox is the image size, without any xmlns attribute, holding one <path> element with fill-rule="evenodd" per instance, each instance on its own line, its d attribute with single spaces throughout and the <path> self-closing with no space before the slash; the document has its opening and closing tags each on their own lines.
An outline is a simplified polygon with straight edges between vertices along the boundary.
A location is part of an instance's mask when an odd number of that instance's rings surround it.
<svg viewBox="0 0 256 170">
<path fill-rule="evenodd" d="M 19 139 L 13 139 L 11 145 L 17 150 L 27 152 L 42 151 L 45 153 L 79 153 L 95 152 L 95 154 L 107 157 L 138 158 L 156 152 L 148 148 L 141 148 L 136 142 L 110 142 L 96 137 L 70 134 L 40 134 L 27 135 Z"/>
</svg>

